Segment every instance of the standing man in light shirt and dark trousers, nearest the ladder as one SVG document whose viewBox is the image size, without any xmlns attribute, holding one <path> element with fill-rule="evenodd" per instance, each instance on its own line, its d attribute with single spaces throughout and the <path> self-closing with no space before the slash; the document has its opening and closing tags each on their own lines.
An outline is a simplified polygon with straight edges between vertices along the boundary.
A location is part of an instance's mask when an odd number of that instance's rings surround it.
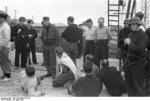
<svg viewBox="0 0 150 101">
<path fill-rule="evenodd" d="M 109 47 L 108 43 L 112 39 L 110 30 L 104 25 L 103 17 L 98 18 L 99 26 L 95 30 L 96 45 L 95 45 L 95 63 L 100 67 L 101 60 L 108 60 Z"/>
</svg>

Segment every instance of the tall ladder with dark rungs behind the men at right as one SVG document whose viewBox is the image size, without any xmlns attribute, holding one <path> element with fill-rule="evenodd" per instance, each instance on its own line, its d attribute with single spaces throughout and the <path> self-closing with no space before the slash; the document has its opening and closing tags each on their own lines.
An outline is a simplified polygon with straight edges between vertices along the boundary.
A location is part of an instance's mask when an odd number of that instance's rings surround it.
<svg viewBox="0 0 150 101">
<path fill-rule="evenodd" d="M 121 68 L 121 58 L 118 49 L 118 32 L 120 28 L 120 6 L 123 6 L 122 0 L 108 0 L 108 27 L 112 32 L 113 40 L 109 47 L 109 56 L 119 58 L 119 69 Z M 116 51 L 117 50 L 117 51 Z"/>
</svg>

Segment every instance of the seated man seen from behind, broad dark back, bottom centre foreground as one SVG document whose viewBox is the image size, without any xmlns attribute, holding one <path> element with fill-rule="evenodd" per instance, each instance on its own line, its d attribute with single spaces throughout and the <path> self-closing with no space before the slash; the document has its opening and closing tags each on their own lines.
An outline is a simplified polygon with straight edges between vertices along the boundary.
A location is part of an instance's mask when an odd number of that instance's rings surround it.
<svg viewBox="0 0 150 101">
<path fill-rule="evenodd" d="M 68 87 L 68 93 L 75 96 L 99 96 L 102 83 L 92 74 L 92 63 L 85 62 L 83 68 L 86 73 L 85 77 L 81 77 Z"/>
</svg>

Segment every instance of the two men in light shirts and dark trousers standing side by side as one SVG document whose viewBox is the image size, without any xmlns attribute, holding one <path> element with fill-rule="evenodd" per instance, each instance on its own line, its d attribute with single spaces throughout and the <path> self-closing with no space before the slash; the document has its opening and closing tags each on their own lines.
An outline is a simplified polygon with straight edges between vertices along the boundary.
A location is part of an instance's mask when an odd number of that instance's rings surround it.
<svg viewBox="0 0 150 101">
<path fill-rule="evenodd" d="M 84 57 L 87 54 L 94 56 L 94 61 L 100 67 L 100 61 L 108 60 L 109 41 L 112 39 L 110 30 L 104 25 L 103 17 L 98 19 L 98 27 L 93 26 L 91 19 L 86 21 Z"/>
</svg>

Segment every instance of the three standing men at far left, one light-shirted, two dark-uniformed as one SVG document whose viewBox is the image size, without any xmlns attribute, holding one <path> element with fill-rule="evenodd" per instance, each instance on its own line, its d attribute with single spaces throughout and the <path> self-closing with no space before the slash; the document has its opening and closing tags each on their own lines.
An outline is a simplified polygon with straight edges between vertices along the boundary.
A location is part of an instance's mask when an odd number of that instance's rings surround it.
<svg viewBox="0 0 150 101">
<path fill-rule="evenodd" d="M 0 48 L 1 48 L 1 65 L 4 72 L 4 81 L 8 81 L 11 78 L 11 68 L 9 60 L 9 51 L 11 42 L 15 43 L 15 66 L 16 69 L 19 68 L 21 60 L 21 67 L 25 68 L 27 66 L 27 61 L 30 62 L 30 52 L 32 53 L 32 61 L 37 64 L 36 53 L 35 53 L 35 38 L 37 37 L 37 32 L 32 28 L 33 21 L 27 20 L 25 24 L 25 17 L 19 18 L 19 24 L 15 26 L 10 26 L 8 23 L 8 15 L 1 11 L 0 12 Z M 21 56 L 21 59 L 20 59 Z"/>
</svg>

